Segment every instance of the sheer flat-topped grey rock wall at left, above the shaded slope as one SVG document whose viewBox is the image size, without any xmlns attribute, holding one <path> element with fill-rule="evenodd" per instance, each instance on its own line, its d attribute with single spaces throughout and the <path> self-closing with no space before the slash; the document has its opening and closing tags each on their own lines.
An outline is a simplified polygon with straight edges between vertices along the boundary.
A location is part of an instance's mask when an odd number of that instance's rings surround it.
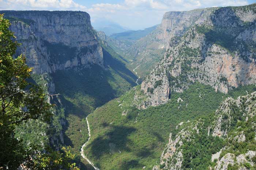
<svg viewBox="0 0 256 170">
<path fill-rule="evenodd" d="M 0 11 L 11 21 L 11 31 L 22 45 L 34 73 L 99 64 L 102 48 L 91 27 L 90 15 L 74 11 Z"/>
</svg>

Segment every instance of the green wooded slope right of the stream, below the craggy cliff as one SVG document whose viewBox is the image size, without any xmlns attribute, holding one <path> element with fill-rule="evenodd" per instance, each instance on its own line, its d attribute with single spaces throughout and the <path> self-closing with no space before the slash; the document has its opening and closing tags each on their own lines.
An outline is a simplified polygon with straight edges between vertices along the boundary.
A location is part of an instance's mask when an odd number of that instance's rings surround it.
<svg viewBox="0 0 256 170">
<path fill-rule="evenodd" d="M 136 90 L 139 90 L 139 86 Z M 223 99 L 236 97 L 236 94 L 245 95 L 246 90 L 252 92 L 256 87 L 243 86 L 229 94 L 222 94 L 215 92 L 210 86 L 196 83 L 183 93 L 173 93 L 168 103 L 148 107 L 146 110 L 138 110 L 132 106 L 135 90 L 130 90 L 120 98 L 99 107 L 89 116 L 92 137 L 84 150 L 101 169 L 128 170 L 146 166 L 146 170 L 151 170 L 155 162 L 159 162 L 170 132 L 173 136 L 178 132 L 177 124 L 198 118 L 207 120 L 214 115 Z M 183 102 L 177 102 L 178 98 Z M 122 115 L 123 112 L 127 115 Z M 195 153 L 195 162 L 185 166 L 196 167 L 200 163 L 200 167 L 207 167 L 211 162 L 198 160 L 200 156 L 209 158 L 214 151 L 221 148 L 222 140 L 207 138 L 206 131 L 203 134 L 202 142 L 205 144 L 199 143 L 198 148 L 195 146 L 203 152 Z M 198 140 L 200 137 L 198 136 Z M 208 147 L 211 140 L 215 141 L 216 145 Z M 192 143 L 188 143 L 184 147 L 194 150 L 192 146 Z"/>
</svg>

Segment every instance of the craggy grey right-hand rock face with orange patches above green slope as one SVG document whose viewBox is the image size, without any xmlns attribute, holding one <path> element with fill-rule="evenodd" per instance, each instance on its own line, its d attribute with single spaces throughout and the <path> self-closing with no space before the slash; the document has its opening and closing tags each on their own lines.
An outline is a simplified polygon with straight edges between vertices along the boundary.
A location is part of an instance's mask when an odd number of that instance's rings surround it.
<svg viewBox="0 0 256 170">
<path fill-rule="evenodd" d="M 180 29 L 174 26 L 182 22 L 163 19 L 161 25 L 168 25 L 171 31 L 162 35 L 172 38 L 162 60 L 142 82 L 147 105 L 166 103 L 171 92 L 182 92 L 194 82 L 224 93 L 240 85 L 256 83 L 255 9 L 255 4 L 207 8 L 200 15 L 192 12 L 191 18 L 182 13 L 167 13 L 166 18 L 179 14 L 192 20 L 191 28 L 186 27 L 189 22 L 183 23 L 184 29 Z M 175 36 L 181 34 L 184 35 Z M 159 38 L 165 39 L 163 37 Z"/>
</svg>

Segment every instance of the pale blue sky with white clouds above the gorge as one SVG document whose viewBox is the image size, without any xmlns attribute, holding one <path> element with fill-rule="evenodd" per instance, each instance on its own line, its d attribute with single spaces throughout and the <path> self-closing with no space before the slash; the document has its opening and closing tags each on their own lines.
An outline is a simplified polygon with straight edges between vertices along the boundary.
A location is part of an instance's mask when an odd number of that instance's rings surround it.
<svg viewBox="0 0 256 170">
<path fill-rule="evenodd" d="M 256 0 L 0 0 L 0 10 L 86 11 L 91 22 L 109 20 L 137 30 L 161 23 L 167 11 L 241 6 Z"/>
</svg>

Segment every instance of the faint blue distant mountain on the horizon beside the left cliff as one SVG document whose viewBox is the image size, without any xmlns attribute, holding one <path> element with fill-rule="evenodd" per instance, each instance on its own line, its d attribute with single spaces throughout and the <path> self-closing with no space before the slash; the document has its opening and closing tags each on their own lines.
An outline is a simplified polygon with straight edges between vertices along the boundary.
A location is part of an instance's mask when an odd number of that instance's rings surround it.
<svg viewBox="0 0 256 170">
<path fill-rule="evenodd" d="M 106 35 L 112 35 L 116 33 L 122 33 L 128 31 L 129 29 L 120 26 L 120 24 L 109 21 L 98 19 L 92 23 L 93 27 L 97 31 L 103 31 Z"/>
</svg>

